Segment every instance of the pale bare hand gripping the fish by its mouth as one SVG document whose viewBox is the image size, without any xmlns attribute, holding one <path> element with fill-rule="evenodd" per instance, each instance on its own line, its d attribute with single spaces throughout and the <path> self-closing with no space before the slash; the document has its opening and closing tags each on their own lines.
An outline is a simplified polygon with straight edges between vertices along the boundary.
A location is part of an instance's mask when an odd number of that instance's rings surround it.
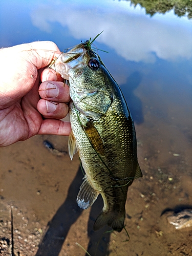
<svg viewBox="0 0 192 256">
<path fill-rule="evenodd" d="M 60 51 L 51 41 L 0 49 L 0 146 L 37 134 L 66 135 L 69 87 L 46 69 Z"/>
</svg>

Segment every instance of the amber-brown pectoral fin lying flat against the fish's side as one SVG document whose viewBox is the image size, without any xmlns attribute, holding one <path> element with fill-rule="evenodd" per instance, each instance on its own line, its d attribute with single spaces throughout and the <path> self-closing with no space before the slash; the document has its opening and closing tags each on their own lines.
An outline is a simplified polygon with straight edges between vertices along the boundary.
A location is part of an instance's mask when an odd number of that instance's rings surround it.
<svg viewBox="0 0 192 256">
<path fill-rule="evenodd" d="M 95 128 L 94 124 L 91 121 L 88 121 L 86 127 L 84 127 L 84 131 L 86 132 L 92 146 L 94 147 L 95 151 L 100 155 L 104 154 L 104 145 L 103 141 Z"/>
</svg>

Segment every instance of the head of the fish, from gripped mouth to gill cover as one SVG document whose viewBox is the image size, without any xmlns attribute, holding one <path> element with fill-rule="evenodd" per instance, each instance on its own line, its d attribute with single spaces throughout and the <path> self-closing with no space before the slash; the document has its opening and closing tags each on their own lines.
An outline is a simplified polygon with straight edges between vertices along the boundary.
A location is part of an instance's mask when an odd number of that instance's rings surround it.
<svg viewBox="0 0 192 256">
<path fill-rule="evenodd" d="M 112 103 L 109 72 L 99 55 L 86 42 L 62 53 L 55 63 L 56 71 L 69 80 L 70 96 L 85 116 L 98 120 Z"/>
</svg>

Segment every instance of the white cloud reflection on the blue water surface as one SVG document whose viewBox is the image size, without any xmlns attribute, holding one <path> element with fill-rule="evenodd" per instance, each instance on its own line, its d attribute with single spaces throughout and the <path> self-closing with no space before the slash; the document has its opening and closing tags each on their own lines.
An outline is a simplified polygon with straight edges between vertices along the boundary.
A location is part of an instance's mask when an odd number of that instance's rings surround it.
<svg viewBox="0 0 192 256">
<path fill-rule="evenodd" d="M 121 5 L 123 1 L 108 1 L 105 6 L 102 2 L 99 5 L 91 2 L 92 6 L 89 3 L 85 6 L 75 3 L 38 6 L 31 13 L 32 23 L 50 33 L 53 23 L 58 22 L 79 40 L 89 39 L 104 30 L 97 41 L 126 60 L 153 63 L 156 56 L 166 60 L 192 56 L 191 33 L 185 26 L 168 23 L 165 16 L 160 20 L 144 15 L 142 10 L 133 12 L 129 4 L 127 8 L 124 3 Z M 117 4 L 119 8 L 114 8 Z"/>
</svg>

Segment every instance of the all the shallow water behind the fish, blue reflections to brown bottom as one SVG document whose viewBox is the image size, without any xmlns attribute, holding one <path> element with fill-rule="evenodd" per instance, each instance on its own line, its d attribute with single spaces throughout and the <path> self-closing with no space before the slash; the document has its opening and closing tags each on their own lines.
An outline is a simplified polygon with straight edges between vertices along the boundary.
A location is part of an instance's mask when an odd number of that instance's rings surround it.
<svg viewBox="0 0 192 256">
<path fill-rule="evenodd" d="M 53 40 L 62 51 L 104 30 L 95 46 L 109 52 L 99 55 L 129 104 L 143 172 L 127 194 L 130 241 L 123 242 L 125 231 L 93 231 L 102 200 L 88 210 L 77 206 L 78 156 L 71 162 L 43 144 L 47 139 L 67 151 L 68 138 L 61 136 L 0 148 L 0 241 L 11 241 L 12 206 L 16 255 L 85 255 L 76 243 L 92 256 L 191 255 L 191 228 L 176 230 L 166 219 L 169 210 L 192 207 L 191 20 L 103 2 L 1 3 L 0 47 Z"/>
</svg>

